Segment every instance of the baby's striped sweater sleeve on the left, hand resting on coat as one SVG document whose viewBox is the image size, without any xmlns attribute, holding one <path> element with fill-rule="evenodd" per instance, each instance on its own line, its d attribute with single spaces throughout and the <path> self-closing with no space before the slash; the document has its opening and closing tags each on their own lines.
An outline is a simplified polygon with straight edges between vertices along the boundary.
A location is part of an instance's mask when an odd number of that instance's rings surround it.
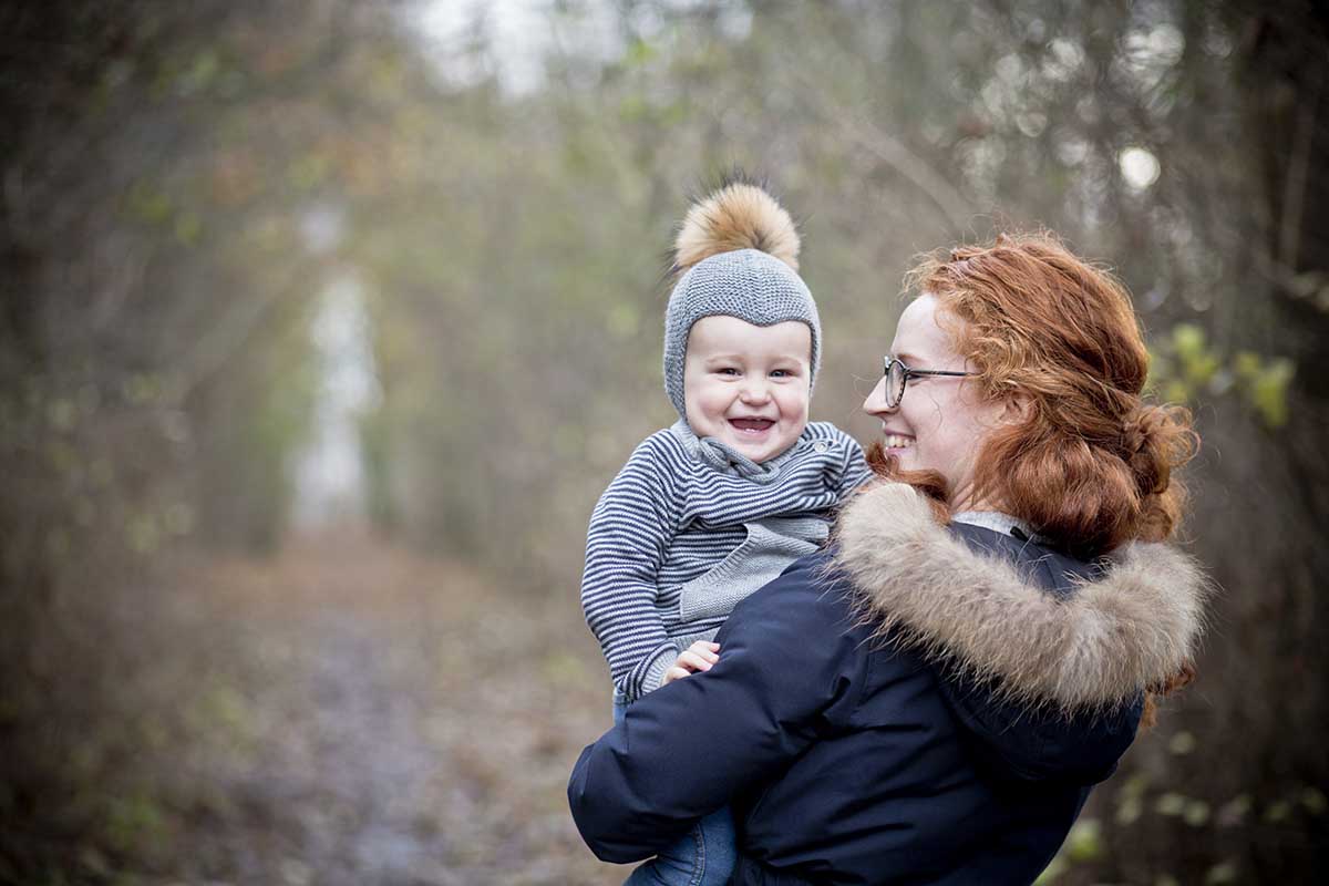
<svg viewBox="0 0 1329 886">
<path fill-rule="evenodd" d="M 678 655 L 655 606 L 678 531 L 676 490 L 666 445 L 649 437 L 601 495 L 586 531 L 582 611 L 629 701 L 657 689 Z"/>
</svg>

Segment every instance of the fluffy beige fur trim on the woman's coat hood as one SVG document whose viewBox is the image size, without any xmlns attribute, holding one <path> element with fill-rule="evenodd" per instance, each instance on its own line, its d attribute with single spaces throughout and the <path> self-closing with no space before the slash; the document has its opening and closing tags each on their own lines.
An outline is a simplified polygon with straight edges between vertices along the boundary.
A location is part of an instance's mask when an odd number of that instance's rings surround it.
<svg viewBox="0 0 1329 886">
<path fill-rule="evenodd" d="M 938 525 L 904 484 L 856 495 L 836 529 L 835 566 L 874 636 L 921 650 L 1003 696 L 1069 709 L 1110 705 L 1188 665 L 1212 586 L 1170 545 L 1132 542 L 1070 599 L 1033 587 Z"/>
</svg>

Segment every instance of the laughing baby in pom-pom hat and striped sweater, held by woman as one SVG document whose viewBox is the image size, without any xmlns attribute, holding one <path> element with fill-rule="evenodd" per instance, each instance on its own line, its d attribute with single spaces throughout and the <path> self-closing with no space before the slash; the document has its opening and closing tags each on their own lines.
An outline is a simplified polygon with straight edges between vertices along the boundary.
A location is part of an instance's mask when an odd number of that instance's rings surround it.
<svg viewBox="0 0 1329 886">
<path fill-rule="evenodd" d="M 664 316 L 664 389 L 679 421 L 637 448 L 586 539 L 582 608 L 609 659 L 615 720 L 708 671 L 734 606 L 815 551 L 833 509 L 870 476 L 848 434 L 808 422 L 821 325 L 797 254 L 788 213 L 747 181 L 683 221 Z M 732 867 L 726 809 L 627 882 L 724 883 Z"/>
</svg>

